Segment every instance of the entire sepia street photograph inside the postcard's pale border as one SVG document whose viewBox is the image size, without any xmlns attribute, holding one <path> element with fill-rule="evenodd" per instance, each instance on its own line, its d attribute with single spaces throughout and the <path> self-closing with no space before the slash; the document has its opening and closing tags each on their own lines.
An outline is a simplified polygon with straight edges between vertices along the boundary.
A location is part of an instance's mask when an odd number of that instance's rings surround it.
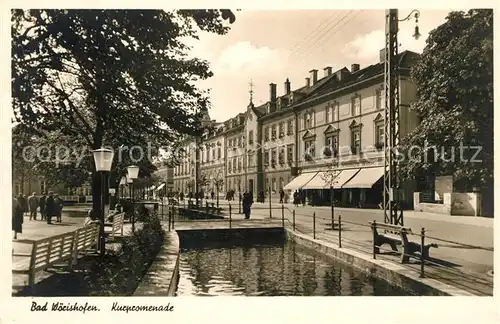
<svg viewBox="0 0 500 324">
<path fill-rule="evenodd" d="M 9 8 L 10 297 L 493 296 L 494 10 L 410 5 Z"/>
</svg>

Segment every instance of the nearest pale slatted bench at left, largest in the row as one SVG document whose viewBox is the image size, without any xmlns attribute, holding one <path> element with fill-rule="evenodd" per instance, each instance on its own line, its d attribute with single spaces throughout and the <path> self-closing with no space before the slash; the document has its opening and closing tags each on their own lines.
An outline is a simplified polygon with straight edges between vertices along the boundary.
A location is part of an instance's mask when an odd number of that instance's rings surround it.
<svg viewBox="0 0 500 324">
<path fill-rule="evenodd" d="M 39 240 L 17 240 L 17 243 L 31 244 L 31 253 L 13 254 L 13 256 L 29 258 L 26 263 L 13 264 L 13 274 L 27 274 L 28 284 L 33 287 L 35 274 L 39 270 L 46 270 L 56 264 L 67 262 L 68 269 L 72 270 L 75 248 L 75 232 L 68 232 Z M 20 266 L 20 267 L 19 267 Z"/>
</svg>

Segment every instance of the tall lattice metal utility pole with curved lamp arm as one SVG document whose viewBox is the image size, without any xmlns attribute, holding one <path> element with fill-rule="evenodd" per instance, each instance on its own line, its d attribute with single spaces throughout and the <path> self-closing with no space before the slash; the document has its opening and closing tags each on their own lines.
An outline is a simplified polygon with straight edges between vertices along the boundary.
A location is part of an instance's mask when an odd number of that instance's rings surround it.
<svg viewBox="0 0 500 324">
<path fill-rule="evenodd" d="M 399 22 L 411 19 L 414 14 L 418 23 L 420 12 L 413 10 L 404 18 L 398 19 L 398 9 L 385 12 L 385 119 L 384 119 L 384 222 L 404 225 L 401 208 L 398 149 L 399 137 L 399 57 L 398 29 Z M 415 27 L 415 39 L 420 37 L 418 25 Z"/>
</svg>

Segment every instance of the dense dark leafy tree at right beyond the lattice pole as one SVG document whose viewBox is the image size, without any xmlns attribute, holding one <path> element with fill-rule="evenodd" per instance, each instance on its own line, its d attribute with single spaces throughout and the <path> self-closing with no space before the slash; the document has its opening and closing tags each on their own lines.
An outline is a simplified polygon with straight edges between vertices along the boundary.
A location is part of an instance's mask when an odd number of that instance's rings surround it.
<svg viewBox="0 0 500 324">
<path fill-rule="evenodd" d="M 491 182 L 493 10 L 451 12 L 446 22 L 429 34 L 421 59 L 412 69 L 412 78 L 418 99 L 411 108 L 421 123 L 403 139 L 402 149 L 435 145 L 437 151 L 424 153 L 419 159 L 412 155 L 403 164 L 404 176 L 441 173 L 454 174 L 456 181 L 473 185 Z M 482 147 L 476 157 L 481 162 L 471 161 L 475 149 L 465 149 L 461 158 L 461 143 Z"/>
</svg>

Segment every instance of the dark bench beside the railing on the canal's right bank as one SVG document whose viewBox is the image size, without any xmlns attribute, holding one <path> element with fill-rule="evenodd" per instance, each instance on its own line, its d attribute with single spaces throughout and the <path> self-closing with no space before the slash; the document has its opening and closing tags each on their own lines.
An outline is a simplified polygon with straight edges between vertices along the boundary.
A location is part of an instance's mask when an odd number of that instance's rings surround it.
<svg viewBox="0 0 500 324">
<path fill-rule="evenodd" d="M 370 222 L 373 232 L 373 249 L 375 254 L 380 254 L 380 247 L 383 244 L 389 244 L 393 251 L 399 252 L 398 245 L 403 246 L 401 252 L 401 263 L 406 263 L 410 260 L 410 255 L 415 255 L 415 252 L 422 253 L 422 246 L 420 242 L 412 242 L 408 239 L 408 235 L 412 235 L 411 228 Z M 380 234 L 378 230 L 384 230 L 385 233 Z M 423 259 L 429 258 L 429 249 L 431 247 L 437 248 L 435 243 L 426 244 L 423 246 Z"/>
</svg>

